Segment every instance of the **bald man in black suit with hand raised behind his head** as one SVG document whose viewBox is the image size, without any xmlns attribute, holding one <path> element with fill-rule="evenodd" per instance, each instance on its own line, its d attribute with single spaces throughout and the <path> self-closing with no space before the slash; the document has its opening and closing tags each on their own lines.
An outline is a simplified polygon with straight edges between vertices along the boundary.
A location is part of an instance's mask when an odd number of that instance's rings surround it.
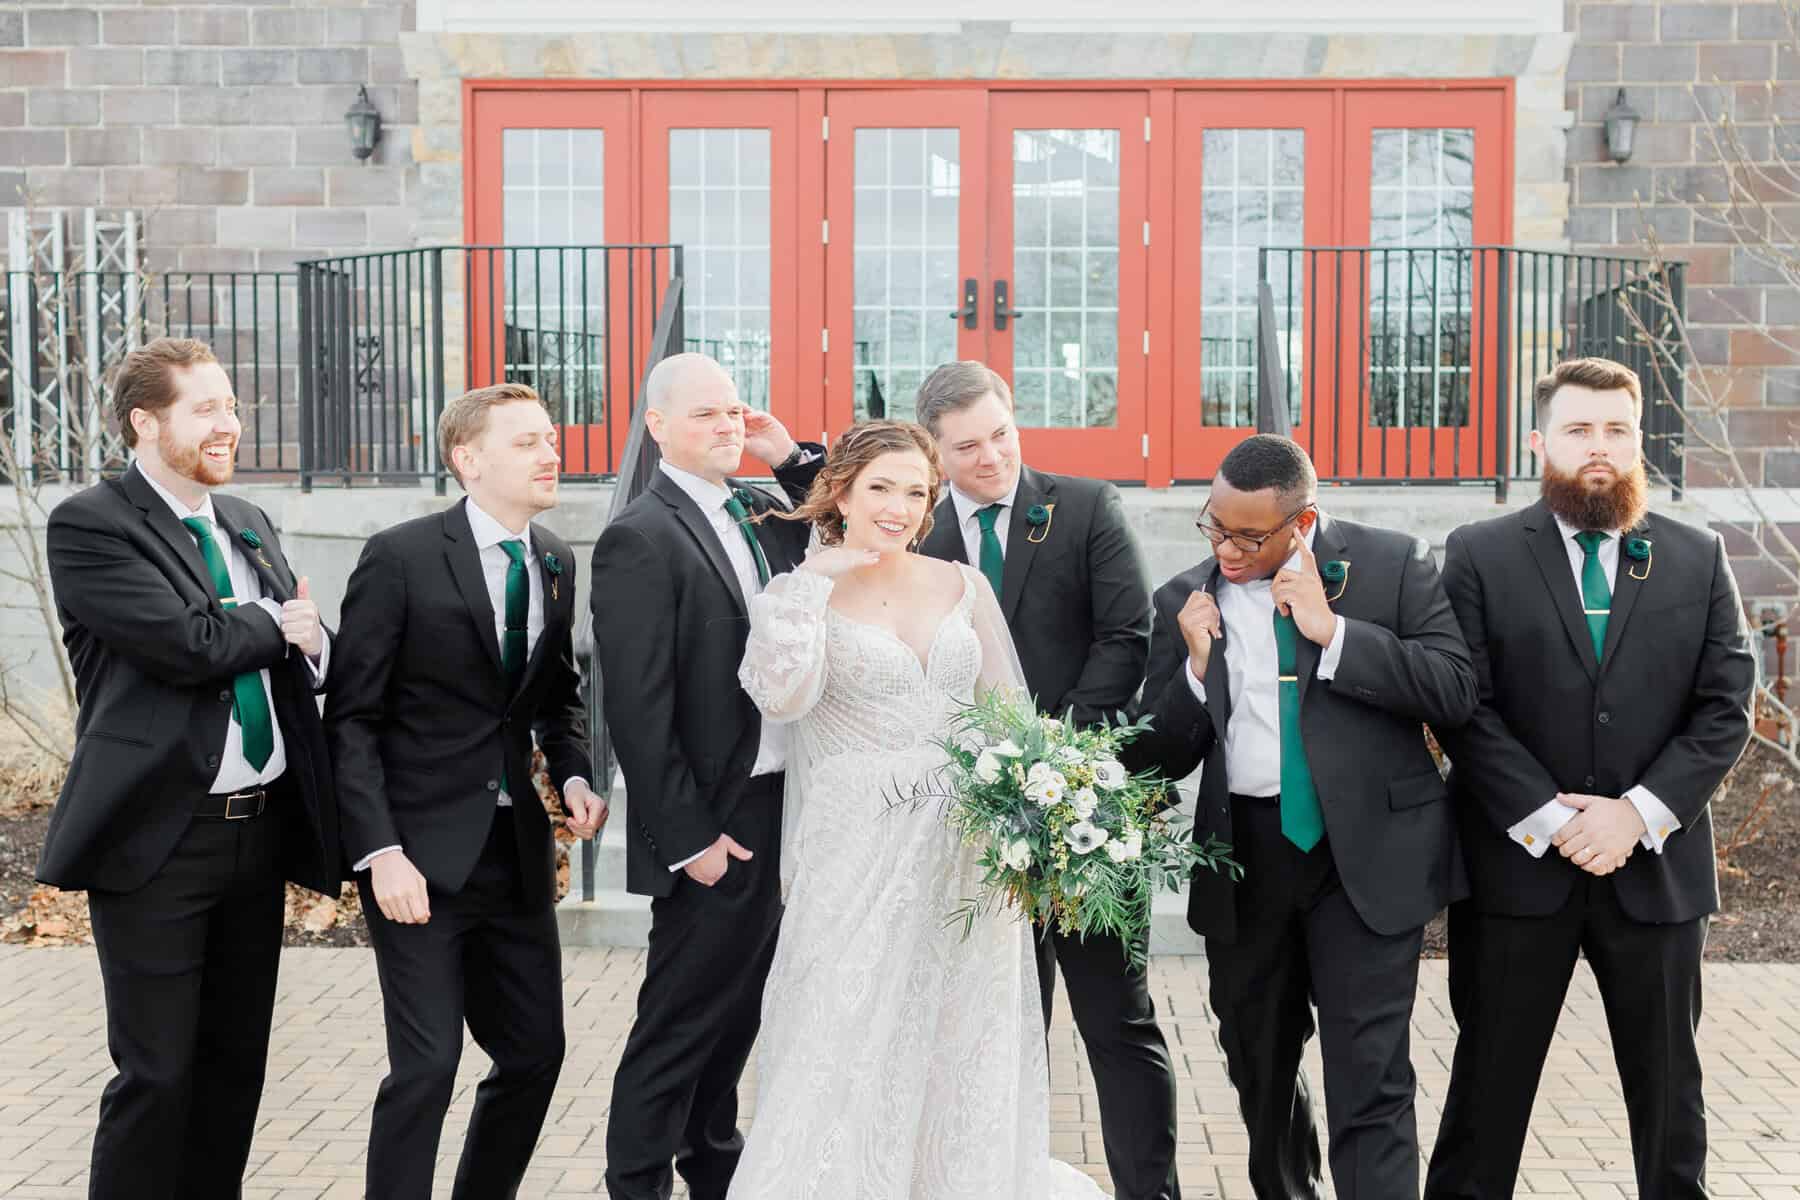
<svg viewBox="0 0 1800 1200">
<path fill-rule="evenodd" d="M 747 599 L 806 552 L 808 527 L 731 479 L 749 450 L 805 498 L 824 461 L 738 399 L 704 354 L 650 372 L 650 488 L 594 547 L 594 649 L 626 795 L 626 887 L 650 896 L 637 1020 L 607 1123 L 607 1191 L 724 1200 L 743 1151 L 738 1076 L 761 1024 L 781 918 L 785 739 L 738 685 Z"/>
</svg>

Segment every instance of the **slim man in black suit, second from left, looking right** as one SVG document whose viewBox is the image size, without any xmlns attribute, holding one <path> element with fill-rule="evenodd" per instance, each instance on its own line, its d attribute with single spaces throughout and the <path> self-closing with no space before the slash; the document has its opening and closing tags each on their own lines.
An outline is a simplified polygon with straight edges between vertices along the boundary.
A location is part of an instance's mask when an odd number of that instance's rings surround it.
<svg viewBox="0 0 1800 1200">
<path fill-rule="evenodd" d="M 466 498 L 364 547 L 326 734 L 387 1018 L 369 1195 L 430 1198 L 466 1020 L 493 1069 L 452 1195 L 486 1200 L 518 1195 L 563 1058 L 533 734 L 571 829 L 592 837 L 605 804 L 587 784 L 574 558 L 531 520 L 556 506 L 551 416 L 529 387 L 500 383 L 452 401 L 437 441 Z"/>
</svg>

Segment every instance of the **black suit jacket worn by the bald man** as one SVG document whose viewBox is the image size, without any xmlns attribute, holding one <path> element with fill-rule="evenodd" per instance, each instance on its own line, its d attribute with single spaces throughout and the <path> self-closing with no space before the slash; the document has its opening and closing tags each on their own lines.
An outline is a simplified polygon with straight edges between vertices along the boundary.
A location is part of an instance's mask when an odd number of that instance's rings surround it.
<svg viewBox="0 0 1800 1200">
<path fill-rule="evenodd" d="M 794 500 L 823 466 L 823 446 L 803 450 L 814 459 L 776 471 Z M 758 515 L 783 507 L 745 491 Z M 770 576 L 806 556 L 806 522 L 765 516 L 754 529 Z M 661 470 L 594 543 L 592 604 L 603 709 L 628 797 L 625 883 L 668 896 L 679 874 L 670 865 L 716 842 L 743 797 L 763 718 L 738 685 L 751 631 L 738 576 L 711 522 Z"/>
</svg>

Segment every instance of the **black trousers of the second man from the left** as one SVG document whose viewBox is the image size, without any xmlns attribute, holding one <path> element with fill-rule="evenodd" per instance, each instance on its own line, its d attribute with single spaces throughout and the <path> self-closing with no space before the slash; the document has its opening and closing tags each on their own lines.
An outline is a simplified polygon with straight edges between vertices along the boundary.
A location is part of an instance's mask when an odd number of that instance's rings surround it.
<svg viewBox="0 0 1800 1200">
<path fill-rule="evenodd" d="M 549 905 L 527 905 L 509 808 L 495 808 L 463 891 L 430 889 L 432 918 L 382 916 L 362 873 L 387 1018 L 387 1078 L 369 1128 L 371 1200 L 430 1200 L 437 1139 L 463 1058 L 463 1024 L 493 1069 L 475 1088 L 455 1200 L 517 1196 L 563 1060 L 562 945 Z"/>
</svg>

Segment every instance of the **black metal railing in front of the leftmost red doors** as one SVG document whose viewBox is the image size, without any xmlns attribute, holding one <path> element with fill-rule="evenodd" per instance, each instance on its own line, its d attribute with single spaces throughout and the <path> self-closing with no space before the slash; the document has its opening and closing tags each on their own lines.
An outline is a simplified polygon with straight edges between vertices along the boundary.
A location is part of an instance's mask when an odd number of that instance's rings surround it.
<svg viewBox="0 0 1800 1200">
<path fill-rule="evenodd" d="M 670 245 L 432 246 L 301 263 L 302 486 L 445 491 L 436 432 L 452 387 L 531 383 L 569 479 L 614 475 Z M 450 381 L 455 383 L 450 383 Z"/>
</svg>

